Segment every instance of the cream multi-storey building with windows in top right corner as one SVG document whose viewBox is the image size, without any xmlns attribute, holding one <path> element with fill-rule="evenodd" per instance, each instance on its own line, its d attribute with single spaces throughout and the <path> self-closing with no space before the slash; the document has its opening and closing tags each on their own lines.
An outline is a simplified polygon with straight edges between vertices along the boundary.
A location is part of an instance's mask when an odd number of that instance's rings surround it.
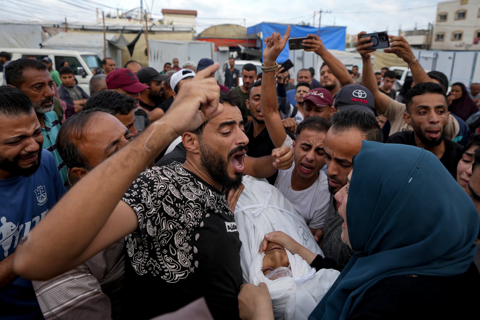
<svg viewBox="0 0 480 320">
<path fill-rule="evenodd" d="M 480 50 L 480 1 L 453 0 L 437 4 L 432 49 Z"/>
</svg>

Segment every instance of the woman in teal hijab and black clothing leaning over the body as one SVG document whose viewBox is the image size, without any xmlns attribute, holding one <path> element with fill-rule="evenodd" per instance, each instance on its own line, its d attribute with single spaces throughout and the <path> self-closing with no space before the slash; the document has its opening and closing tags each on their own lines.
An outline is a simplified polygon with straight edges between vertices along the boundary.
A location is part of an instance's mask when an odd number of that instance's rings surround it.
<svg viewBox="0 0 480 320">
<path fill-rule="evenodd" d="M 480 276 L 471 268 L 478 213 L 435 155 L 363 141 L 350 183 L 336 199 L 346 216 L 342 240 L 357 253 L 309 320 L 417 319 L 421 307 L 445 315 L 453 308 L 457 315 L 477 312 L 475 304 L 463 308 L 455 301 L 467 303 L 471 293 L 478 302 Z M 412 281 L 424 286 L 408 287 Z M 426 288 L 426 295 L 417 292 Z M 417 296 L 411 304 L 398 302 L 409 295 Z M 453 306 L 443 304 L 445 295 Z"/>
</svg>

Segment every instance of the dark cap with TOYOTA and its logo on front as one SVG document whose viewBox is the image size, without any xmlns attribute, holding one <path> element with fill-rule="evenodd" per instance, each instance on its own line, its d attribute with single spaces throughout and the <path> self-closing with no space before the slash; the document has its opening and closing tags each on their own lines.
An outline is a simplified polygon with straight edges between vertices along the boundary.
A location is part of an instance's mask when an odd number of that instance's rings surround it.
<svg viewBox="0 0 480 320">
<path fill-rule="evenodd" d="M 358 109 L 375 115 L 373 95 L 360 84 L 347 84 L 341 88 L 336 94 L 334 105 L 338 111 Z"/>
</svg>

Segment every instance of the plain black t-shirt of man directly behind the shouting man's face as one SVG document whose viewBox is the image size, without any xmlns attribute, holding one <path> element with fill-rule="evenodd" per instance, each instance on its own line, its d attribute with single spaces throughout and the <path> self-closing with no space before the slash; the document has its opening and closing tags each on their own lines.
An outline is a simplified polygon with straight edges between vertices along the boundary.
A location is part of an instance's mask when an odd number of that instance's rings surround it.
<svg viewBox="0 0 480 320">
<path fill-rule="evenodd" d="M 245 129 L 245 135 L 248 138 L 248 152 L 247 155 L 255 158 L 263 157 L 265 155 L 271 155 L 272 150 L 275 149 L 275 145 L 270 139 L 270 135 L 268 134 L 268 130 L 265 127 L 262 132 L 260 132 L 256 137 L 253 136 L 253 121 L 245 123 L 243 126 Z M 295 140 L 295 135 L 285 129 L 285 132 Z M 272 177 L 267 178 L 268 183 L 275 184 L 276 176 L 278 173 L 276 172 Z"/>
</svg>

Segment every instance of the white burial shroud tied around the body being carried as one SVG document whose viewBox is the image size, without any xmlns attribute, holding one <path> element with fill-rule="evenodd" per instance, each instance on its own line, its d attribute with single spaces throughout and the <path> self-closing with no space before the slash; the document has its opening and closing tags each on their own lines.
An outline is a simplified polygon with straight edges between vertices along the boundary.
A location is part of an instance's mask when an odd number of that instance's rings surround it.
<svg viewBox="0 0 480 320">
<path fill-rule="evenodd" d="M 259 249 L 267 233 L 283 231 L 313 253 L 322 256 L 323 253 L 305 220 L 278 189 L 250 176 L 244 177 L 243 184 L 245 189 L 235 208 L 235 221 L 242 242 L 243 281 L 267 285 L 275 319 L 307 319 L 340 273 L 333 269 L 312 269 L 298 254 L 292 255 L 286 250 L 289 267 L 271 272 L 283 273 L 278 277 L 265 276 L 262 271 L 264 253 Z"/>
</svg>

